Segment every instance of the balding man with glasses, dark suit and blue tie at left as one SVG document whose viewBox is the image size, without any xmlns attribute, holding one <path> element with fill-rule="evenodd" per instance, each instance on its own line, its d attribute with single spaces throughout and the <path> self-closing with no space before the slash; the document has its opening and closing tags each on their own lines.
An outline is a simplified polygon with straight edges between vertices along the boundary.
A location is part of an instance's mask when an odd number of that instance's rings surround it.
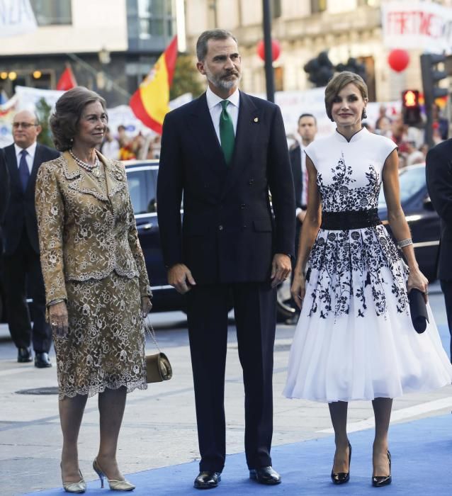
<svg viewBox="0 0 452 496">
<path fill-rule="evenodd" d="M 40 164 L 60 153 L 38 145 L 41 127 L 30 111 L 18 112 L 13 119 L 13 145 L 4 148 L 10 177 L 10 198 L 3 222 L 4 288 L 9 332 L 18 349 L 18 362 L 32 361 L 35 366 L 52 366 L 50 326 L 45 322 L 45 289 L 41 272 L 38 223 L 35 212 L 35 181 Z M 27 294 L 33 298 L 33 332 Z"/>
</svg>

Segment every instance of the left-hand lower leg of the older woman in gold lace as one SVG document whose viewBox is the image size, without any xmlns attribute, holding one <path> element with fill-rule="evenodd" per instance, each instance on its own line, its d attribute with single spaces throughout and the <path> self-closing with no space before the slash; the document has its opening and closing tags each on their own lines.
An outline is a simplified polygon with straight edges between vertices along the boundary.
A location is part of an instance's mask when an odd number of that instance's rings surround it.
<svg viewBox="0 0 452 496">
<path fill-rule="evenodd" d="M 76 483 L 80 480 L 77 440 L 87 398 L 87 395 L 77 395 L 74 398 L 65 396 L 58 402 L 63 433 L 61 471 L 64 483 Z"/>
</svg>

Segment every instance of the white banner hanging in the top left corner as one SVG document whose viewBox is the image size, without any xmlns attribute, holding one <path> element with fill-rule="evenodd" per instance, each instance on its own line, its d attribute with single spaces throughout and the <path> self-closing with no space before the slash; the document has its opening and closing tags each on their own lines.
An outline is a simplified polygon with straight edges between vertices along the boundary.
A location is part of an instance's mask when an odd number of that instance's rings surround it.
<svg viewBox="0 0 452 496">
<path fill-rule="evenodd" d="M 0 0 L 0 38 L 33 33 L 37 28 L 30 0 Z"/>
</svg>

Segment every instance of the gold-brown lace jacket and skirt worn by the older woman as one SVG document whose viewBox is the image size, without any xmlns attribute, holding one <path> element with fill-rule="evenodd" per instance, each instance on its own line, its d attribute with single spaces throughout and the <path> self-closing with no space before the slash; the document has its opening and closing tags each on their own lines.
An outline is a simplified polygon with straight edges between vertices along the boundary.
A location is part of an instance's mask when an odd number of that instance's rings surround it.
<svg viewBox="0 0 452 496">
<path fill-rule="evenodd" d="M 60 399 L 147 388 L 141 296 L 152 292 L 124 167 L 98 157 L 98 176 L 64 152 L 36 180 L 47 303 L 64 298 L 69 316 L 53 337 Z"/>
</svg>

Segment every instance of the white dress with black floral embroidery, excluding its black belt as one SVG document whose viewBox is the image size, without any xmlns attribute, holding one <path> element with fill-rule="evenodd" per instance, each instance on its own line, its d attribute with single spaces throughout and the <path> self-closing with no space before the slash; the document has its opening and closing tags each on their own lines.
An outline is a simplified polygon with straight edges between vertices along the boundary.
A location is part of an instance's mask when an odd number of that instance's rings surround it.
<svg viewBox="0 0 452 496">
<path fill-rule="evenodd" d="M 383 165 L 393 150 L 391 140 L 366 128 L 350 141 L 336 132 L 312 142 L 305 152 L 317 169 L 322 219 L 345 212 L 362 220 L 363 210 L 375 213 Z M 373 224 L 318 232 L 290 349 L 288 398 L 395 398 L 451 383 L 452 366 L 431 310 L 426 331 L 417 334 L 407 267 L 385 227 Z"/>
</svg>

